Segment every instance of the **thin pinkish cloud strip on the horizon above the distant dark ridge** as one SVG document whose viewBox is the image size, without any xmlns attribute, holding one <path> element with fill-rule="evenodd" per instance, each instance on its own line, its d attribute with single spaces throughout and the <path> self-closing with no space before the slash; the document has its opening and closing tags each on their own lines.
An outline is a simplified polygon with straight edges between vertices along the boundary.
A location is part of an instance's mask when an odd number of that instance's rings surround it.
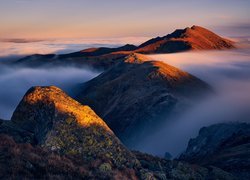
<svg viewBox="0 0 250 180">
<path fill-rule="evenodd" d="M 124 37 L 109 39 L 0 39 L 0 58 L 30 54 L 71 53 L 91 47 L 118 47 L 124 44 L 138 45 L 148 37 Z M 2 58 L 4 59 L 4 58 Z"/>
</svg>

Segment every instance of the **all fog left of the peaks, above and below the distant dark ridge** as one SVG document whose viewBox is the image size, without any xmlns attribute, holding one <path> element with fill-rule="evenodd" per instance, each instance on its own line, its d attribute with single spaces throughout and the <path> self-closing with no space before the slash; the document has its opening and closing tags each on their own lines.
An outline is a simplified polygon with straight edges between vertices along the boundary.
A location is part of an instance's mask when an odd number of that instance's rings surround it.
<svg viewBox="0 0 250 180">
<path fill-rule="evenodd" d="M 106 39 L 0 39 L 0 62 L 19 59 L 31 54 L 63 54 L 91 47 L 118 47 L 127 43 L 140 44 L 148 37 Z M 77 83 L 84 83 L 100 72 L 73 67 L 32 69 L 13 68 L 0 64 L 0 119 L 10 119 L 25 92 L 32 86 L 55 85 L 68 91 Z"/>
</svg>

